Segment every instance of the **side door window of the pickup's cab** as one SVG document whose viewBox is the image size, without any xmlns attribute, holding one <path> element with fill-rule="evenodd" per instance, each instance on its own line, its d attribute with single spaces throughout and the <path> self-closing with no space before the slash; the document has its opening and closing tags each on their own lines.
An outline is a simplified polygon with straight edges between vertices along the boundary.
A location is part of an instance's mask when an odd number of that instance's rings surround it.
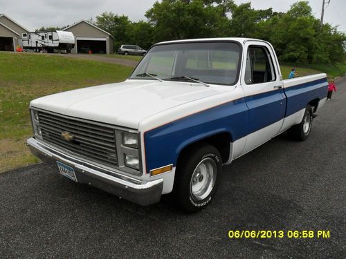
<svg viewBox="0 0 346 259">
<path fill-rule="evenodd" d="M 249 46 L 246 57 L 246 84 L 261 84 L 275 81 L 273 60 L 268 49 L 263 46 Z"/>
</svg>

